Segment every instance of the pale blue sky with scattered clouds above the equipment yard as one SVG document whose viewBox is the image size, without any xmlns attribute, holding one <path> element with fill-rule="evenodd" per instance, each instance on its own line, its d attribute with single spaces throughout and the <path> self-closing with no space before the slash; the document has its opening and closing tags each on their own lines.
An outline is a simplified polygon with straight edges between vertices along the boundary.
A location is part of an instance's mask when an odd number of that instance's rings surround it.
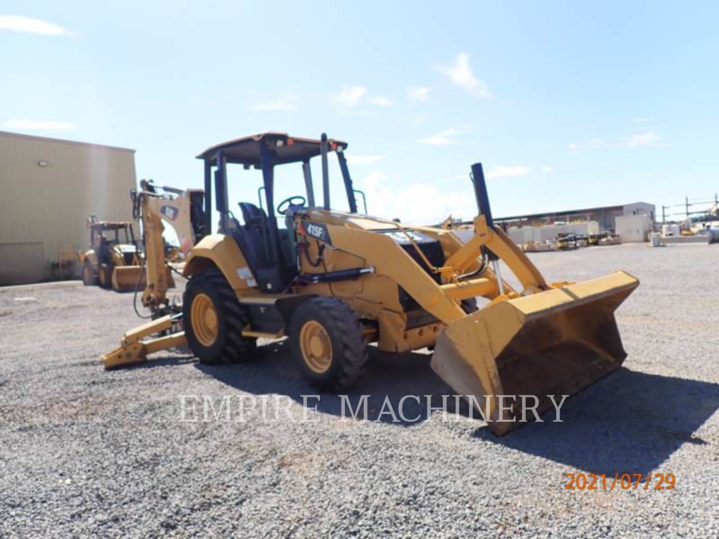
<svg viewBox="0 0 719 539">
<path fill-rule="evenodd" d="M 0 129 L 132 147 L 138 178 L 179 187 L 201 186 L 194 156 L 221 140 L 325 131 L 349 142 L 370 213 L 404 221 L 470 218 L 476 161 L 498 216 L 678 204 L 719 190 L 718 16 L 710 2 L 5 4 Z M 301 192 L 298 172 L 278 196 Z M 259 173 L 234 178 L 232 198 L 254 201 Z"/>
</svg>

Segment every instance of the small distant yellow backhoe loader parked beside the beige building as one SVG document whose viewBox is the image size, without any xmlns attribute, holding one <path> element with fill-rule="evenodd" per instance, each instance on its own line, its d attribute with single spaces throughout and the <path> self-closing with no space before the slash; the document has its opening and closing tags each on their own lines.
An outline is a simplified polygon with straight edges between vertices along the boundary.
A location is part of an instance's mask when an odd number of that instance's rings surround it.
<svg viewBox="0 0 719 539">
<path fill-rule="evenodd" d="M 84 285 L 100 285 L 118 291 L 132 290 L 138 282 L 145 286 L 144 275 L 139 271 L 142 262 L 132 223 L 100 221 L 97 216 L 91 215 L 87 219 L 87 228 L 90 230 L 90 249 L 78 251 Z M 127 282 L 118 279 L 119 271 L 123 272 Z"/>
</svg>

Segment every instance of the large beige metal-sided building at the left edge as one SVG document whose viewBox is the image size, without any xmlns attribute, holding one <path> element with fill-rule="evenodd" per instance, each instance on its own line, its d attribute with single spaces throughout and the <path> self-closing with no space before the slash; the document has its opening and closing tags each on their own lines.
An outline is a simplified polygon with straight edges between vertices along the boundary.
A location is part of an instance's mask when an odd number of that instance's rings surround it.
<svg viewBox="0 0 719 539">
<path fill-rule="evenodd" d="M 78 275 L 86 218 L 131 221 L 134 149 L 0 132 L 0 285 Z"/>
</svg>

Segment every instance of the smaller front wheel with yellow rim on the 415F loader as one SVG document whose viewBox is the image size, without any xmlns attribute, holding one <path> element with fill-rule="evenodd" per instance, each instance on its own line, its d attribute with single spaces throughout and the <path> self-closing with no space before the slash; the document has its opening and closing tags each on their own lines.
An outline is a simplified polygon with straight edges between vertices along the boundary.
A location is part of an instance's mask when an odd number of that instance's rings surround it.
<svg viewBox="0 0 719 539">
<path fill-rule="evenodd" d="M 337 298 L 312 298 L 293 314 L 290 344 L 303 377 L 321 390 L 354 385 L 365 372 L 367 338 L 362 322 Z"/>
</svg>

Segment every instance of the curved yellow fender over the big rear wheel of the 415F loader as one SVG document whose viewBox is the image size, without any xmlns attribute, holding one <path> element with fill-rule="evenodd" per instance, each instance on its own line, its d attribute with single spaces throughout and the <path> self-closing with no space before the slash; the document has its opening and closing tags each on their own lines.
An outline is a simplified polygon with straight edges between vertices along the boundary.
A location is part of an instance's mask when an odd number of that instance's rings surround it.
<svg viewBox="0 0 719 539">
<path fill-rule="evenodd" d="M 191 277 L 212 265 L 222 272 L 238 297 L 257 288 L 255 275 L 252 275 L 237 242 L 225 234 L 210 234 L 201 239 L 191 250 L 182 275 Z"/>
</svg>

